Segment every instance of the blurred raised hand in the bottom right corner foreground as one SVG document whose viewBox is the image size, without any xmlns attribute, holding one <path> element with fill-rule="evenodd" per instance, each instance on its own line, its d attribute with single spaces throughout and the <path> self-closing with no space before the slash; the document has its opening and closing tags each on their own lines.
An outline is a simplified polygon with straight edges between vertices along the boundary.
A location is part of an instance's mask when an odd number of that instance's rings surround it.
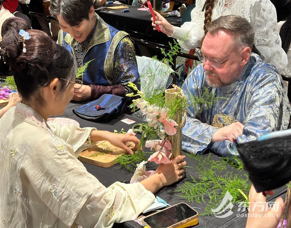
<svg viewBox="0 0 291 228">
<path fill-rule="evenodd" d="M 274 194 L 272 191 L 266 193 Z M 257 193 L 255 187 L 252 185 L 249 193 L 249 205 L 246 228 L 278 227 L 284 208 L 284 201 L 281 197 L 277 198 L 272 209 L 269 209 L 266 197 L 262 192 Z"/>
</svg>

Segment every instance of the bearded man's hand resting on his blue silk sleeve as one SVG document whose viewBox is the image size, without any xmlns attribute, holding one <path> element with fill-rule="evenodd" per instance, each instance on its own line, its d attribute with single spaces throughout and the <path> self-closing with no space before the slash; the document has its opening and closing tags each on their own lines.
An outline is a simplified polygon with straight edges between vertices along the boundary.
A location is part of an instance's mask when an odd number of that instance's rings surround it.
<svg viewBox="0 0 291 228">
<path fill-rule="evenodd" d="M 211 142 L 222 142 L 225 140 L 234 142 L 237 136 L 242 135 L 243 128 L 244 125 L 239 122 L 235 122 L 223 128 L 219 128 L 212 136 Z"/>
</svg>

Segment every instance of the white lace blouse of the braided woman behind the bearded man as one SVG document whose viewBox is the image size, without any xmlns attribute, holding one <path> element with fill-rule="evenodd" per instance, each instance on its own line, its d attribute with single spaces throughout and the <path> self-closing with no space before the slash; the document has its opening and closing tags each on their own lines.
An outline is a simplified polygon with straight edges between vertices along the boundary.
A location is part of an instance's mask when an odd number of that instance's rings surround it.
<svg viewBox="0 0 291 228">
<path fill-rule="evenodd" d="M 191 11 L 191 22 L 181 27 L 174 27 L 171 37 L 181 40 L 189 32 L 184 49 L 200 47 L 204 36 L 205 0 L 196 0 L 196 7 Z M 269 0 L 215 0 L 212 20 L 224 15 L 239 15 L 246 18 L 255 29 L 255 46 L 261 53 L 262 60 L 273 64 L 279 72 L 287 65 L 287 55 L 281 47 L 281 38 L 277 26 L 275 6 Z"/>
</svg>

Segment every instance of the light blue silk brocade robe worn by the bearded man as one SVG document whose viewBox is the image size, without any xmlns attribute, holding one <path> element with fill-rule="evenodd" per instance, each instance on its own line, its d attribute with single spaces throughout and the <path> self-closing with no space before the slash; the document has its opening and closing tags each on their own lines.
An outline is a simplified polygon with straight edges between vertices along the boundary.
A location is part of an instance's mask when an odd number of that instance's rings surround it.
<svg viewBox="0 0 291 228">
<path fill-rule="evenodd" d="M 203 108 L 202 113 L 201 105 L 196 105 L 195 109 L 193 106 L 187 108 L 186 124 L 182 131 L 182 149 L 186 152 L 203 154 L 210 149 L 221 156 L 238 155 L 235 144 L 228 140 L 211 142 L 218 125 L 227 126 L 234 121 L 244 125 L 243 134 L 236 139 L 237 143 L 290 128 L 291 108 L 282 77 L 273 65 L 262 62 L 254 53 L 251 53 L 240 76 L 228 86 L 208 86 L 202 64 L 189 74 L 182 85 L 187 98 L 190 94 L 201 97 L 205 88 L 226 100 L 217 100 L 210 109 Z"/>
</svg>

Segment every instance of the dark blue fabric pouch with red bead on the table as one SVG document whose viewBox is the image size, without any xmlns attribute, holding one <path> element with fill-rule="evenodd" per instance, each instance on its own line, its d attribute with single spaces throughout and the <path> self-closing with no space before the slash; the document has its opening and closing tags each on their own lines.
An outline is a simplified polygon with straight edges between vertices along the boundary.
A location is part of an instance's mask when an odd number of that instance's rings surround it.
<svg viewBox="0 0 291 228">
<path fill-rule="evenodd" d="M 123 97 L 103 94 L 99 99 L 73 109 L 73 112 L 82 119 L 101 121 L 122 113 L 125 110 L 125 104 L 126 100 Z M 101 109 L 97 110 L 96 105 L 100 105 Z"/>
</svg>

